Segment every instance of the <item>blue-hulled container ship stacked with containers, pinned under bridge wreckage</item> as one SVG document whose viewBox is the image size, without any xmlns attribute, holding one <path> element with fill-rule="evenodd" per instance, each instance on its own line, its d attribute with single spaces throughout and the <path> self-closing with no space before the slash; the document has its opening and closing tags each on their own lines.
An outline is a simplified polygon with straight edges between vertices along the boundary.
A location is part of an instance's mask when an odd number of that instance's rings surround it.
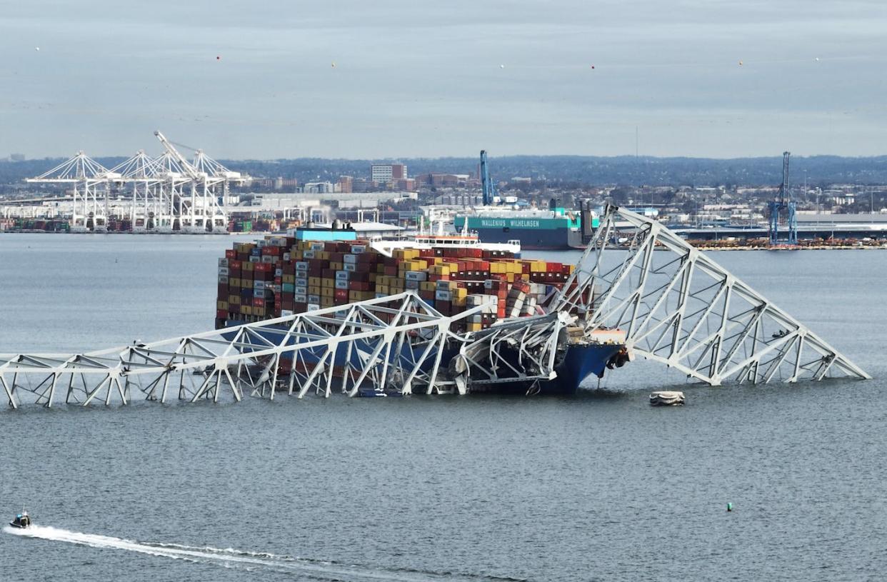
<svg viewBox="0 0 887 582">
<path fill-rule="evenodd" d="M 484 244 L 471 236 L 310 240 L 312 236 L 331 235 L 298 229 L 287 236 L 237 242 L 226 250 L 218 260 L 216 328 L 345 307 L 412 290 L 443 316 L 483 306 L 483 312 L 451 323 L 453 334 L 483 334 L 515 319 L 545 316 L 574 270 L 567 263 L 521 258 L 520 247 L 507 242 Z M 340 236 L 348 238 L 348 233 Z M 277 334 L 269 339 L 279 338 Z M 453 343 L 443 347 L 444 361 L 458 353 L 459 342 Z M 571 393 L 589 376 L 600 377 L 607 367 L 628 360 L 624 334 L 618 330 L 589 338 L 581 327 L 573 327 L 563 330 L 561 343 L 556 377 L 532 387 L 515 377 L 492 390 Z M 522 366 L 518 359 L 515 352 L 514 366 Z M 284 374 L 287 365 L 292 360 L 281 359 Z M 374 387 L 363 391 L 377 394 Z"/>
</svg>

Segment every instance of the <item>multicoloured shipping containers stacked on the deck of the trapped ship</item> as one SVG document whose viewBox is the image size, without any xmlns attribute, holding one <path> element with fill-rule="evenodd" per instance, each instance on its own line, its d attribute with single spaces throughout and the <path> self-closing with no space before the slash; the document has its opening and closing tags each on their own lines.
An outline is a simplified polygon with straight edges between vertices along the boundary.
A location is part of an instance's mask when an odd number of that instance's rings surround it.
<svg viewBox="0 0 887 582">
<path fill-rule="evenodd" d="M 416 291 L 443 315 L 478 305 L 454 324 L 480 331 L 497 319 L 536 315 L 573 265 L 481 248 L 403 248 L 385 256 L 368 241 L 270 236 L 235 243 L 219 259 L 216 328 Z"/>
</svg>

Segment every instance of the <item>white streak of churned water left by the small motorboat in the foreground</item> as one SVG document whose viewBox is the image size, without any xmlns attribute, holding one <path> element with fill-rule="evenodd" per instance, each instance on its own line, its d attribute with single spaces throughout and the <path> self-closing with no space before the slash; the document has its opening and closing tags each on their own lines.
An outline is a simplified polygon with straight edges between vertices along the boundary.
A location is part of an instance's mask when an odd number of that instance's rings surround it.
<svg viewBox="0 0 887 582">
<path fill-rule="evenodd" d="M 5 526 L 4 531 L 15 536 L 46 539 L 79 546 L 98 547 L 138 554 L 147 554 L 185 560 L 189 562 L 217 563 L 226 567 L 240 567 L 245 570 L 266 570 L 292 573 L 300 577 L 317 580 L 391 580 L 394 582 L 428 582 L 448 580 L 453 582 L 513 582 L 522 578 L 486 576 L 461 572 L 414 570 L 407 568 L 374 568 L 361 564 L 348 564 L 292 555 L 250 552 L 232 547 L 197 547 L 182 544 L 154 543 L 132 539 L 114 538 L 82 531 L 70 531 L 46 525 L 31 525 L 21 530 Z"/>
</svg>

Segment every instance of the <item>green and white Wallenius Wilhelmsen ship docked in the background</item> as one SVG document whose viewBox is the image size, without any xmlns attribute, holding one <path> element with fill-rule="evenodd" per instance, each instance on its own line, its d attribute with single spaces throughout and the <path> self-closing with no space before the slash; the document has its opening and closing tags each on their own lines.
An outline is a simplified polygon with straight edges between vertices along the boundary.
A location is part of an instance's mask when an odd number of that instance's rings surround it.
<svg viewBox="0 0 887 582">
<path fill-rule="evenodd" d="M 476 232 L 483 242 L 520 240 L 528 250 L 564 250 L 583 248 L 583 218 L 595 229 L 598 218 L 590 212 L 566 208 L 510 210 L 476 208 L 475 214 L 456 216 L 453 226 L 460 231 Z"/>
</svg>

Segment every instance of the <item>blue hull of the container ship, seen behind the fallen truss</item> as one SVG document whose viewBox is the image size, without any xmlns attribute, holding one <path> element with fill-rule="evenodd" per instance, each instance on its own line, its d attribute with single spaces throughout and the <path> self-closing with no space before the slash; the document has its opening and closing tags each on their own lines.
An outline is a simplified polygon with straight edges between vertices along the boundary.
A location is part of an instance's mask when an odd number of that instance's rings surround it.
<svg viewBox="0 0 887 582">
<path fill-rule="evenodd" d="M 227 320 L 226 326 L 239 326 L 242 322 L 235 321 L 232 319 Z M 275 329 L 280 332 L 285 331 L 285 329 L 281 327 L 276 327 Z M 275 331 L 267 330 L 264 333 L 259 332 L 266 339 L 271 342 L 279 342 L 280 334 L 275 333 Z M 226 339 L 232 339 L 233 334 L 230 336 L 223 334 Z M 377 344 L 371 341 L 364 341 L 363 345 L 360 345 L 360 349 L 372 352 Z M 525 381 L 515 378 L 513 382 L 499 382 L 496 384 L 488 384 L 488 385 L 475 385 L 476 388 L 473 388 L 472 391 L 476 392 L 490 392 L 490 393 L 505 393 L 505 394 L 540 394 L 540 395 L 570 395 L 575 394 L 577 389 L 582 385 L 582 383 L 592 376 L 596 376 L 598 378 L 603 377 L 604 372 L 607 370 L 608 365 L 610 366 L 622 366 L 624 364 L 624 358 L 620 359 L 620 353 L 624 353 L 624 345 L 617 343 L 607 343 L 607 344 L 589 344 L 589 345 L 572 345 L 564 352 L 563 358 L 561 361 L 554 366 L 554 371 L 557 373 L 557 377 L 551 381 Z M 456 350 L 444 350 L 443 353 L 443 361 L 449 361 L 452 357 L 456 355 Z M 286 356 L 286 352 L 285 352 Z M 292 358 L 292 353 L 289 356 Z M 514 352 L 514 359 L 510 362 L 512 366 L 518 367 L 517 362 L 518 354 Z M 310 353 L 302 353 L 302 358 L 306 361 L 312 360 L 312 355 Z M 318 352 L 319 358 L 319 352 Z M 359 360 L 356 357 L 353 364 L 359 364 Z M 393 356 L 396 358 L 396 355 Z M 428 362 L 427 366 L 431 366 L 431 362 L 434 361 L 435 358 L 429 357 L 426 361 Z M 510 359 L 510 358 L 509 358 Z M 336 358 L 334 361 L 334 366 L 346 366 L 348 364 L 346 360 L 346 355 L 344 350 L 336 353 Z M 358 390 L 358 395 L 363 397 L 370 396 L 399 396 L 399 394 L 395 395 L 393 393 L 383 394 L 377 387 L 373 386 L 361 386 Z"/>
</svg>

